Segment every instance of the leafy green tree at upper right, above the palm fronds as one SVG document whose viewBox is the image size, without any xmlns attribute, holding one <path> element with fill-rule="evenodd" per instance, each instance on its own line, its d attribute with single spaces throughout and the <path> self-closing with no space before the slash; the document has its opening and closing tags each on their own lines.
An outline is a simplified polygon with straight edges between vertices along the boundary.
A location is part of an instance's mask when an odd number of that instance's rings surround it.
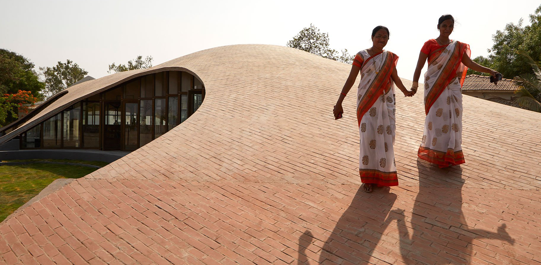
<svg viewBox="0 0 541 265">
<path fill-rule="evenodd" d="M 526 51 L 532 58 L 541 56 L 541 5 L 530 15 L 531 25 L 523 26 L 509 23 L 503 31 L 496 31 L 492 36 L 494 44 L 489 49 L 488 58 L 479 58 L 476 62 L 502 73 L 506 78 L 513 78 L 522 73 L 531 72 L 530 62 L 517 51 Z M 468 71 L 473 73 L 473 71 Z"/>
</svg>

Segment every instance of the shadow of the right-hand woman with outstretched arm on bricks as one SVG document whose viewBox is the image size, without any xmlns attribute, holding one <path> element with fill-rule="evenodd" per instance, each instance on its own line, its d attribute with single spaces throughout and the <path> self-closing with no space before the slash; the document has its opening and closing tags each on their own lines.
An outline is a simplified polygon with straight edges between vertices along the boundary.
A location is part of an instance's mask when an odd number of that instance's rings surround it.
<svg viewBox="0 0 541 265">
<path fill-rule="evenodd" d="M 419 192 L 410 223 L 406 223 L 401 209 L 392 210 L 388 218 L 398 222 L 403 262 L 467 265 L 472 262 L 474 239 L 496 239 L 514 244 L 505 224 L 494 232 L 467 225 L 462 210 L 464 180 L 459 166 L 440 169 L 418 159 L 417 168 Z"/>
</svg>

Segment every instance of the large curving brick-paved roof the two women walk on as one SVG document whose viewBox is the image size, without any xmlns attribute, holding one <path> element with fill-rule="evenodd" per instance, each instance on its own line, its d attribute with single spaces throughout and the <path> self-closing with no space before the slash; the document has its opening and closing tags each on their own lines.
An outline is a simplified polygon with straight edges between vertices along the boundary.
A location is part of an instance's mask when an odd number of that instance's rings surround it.
<svg viewBox="0 0 541 265">
<path fill-rule="evenodd" d="M 465 96 L 466 164 L 440 169 L 416 155 L 423 91 L 397 94 L 400 186 L 368 194 L 355 89 L 332 116 L 351 66 L 234 45 L 148 71 L 170 67 L 199 110 L 1 223 L 0 264 L 540 264 L 541 113 Z"/>
</svg>

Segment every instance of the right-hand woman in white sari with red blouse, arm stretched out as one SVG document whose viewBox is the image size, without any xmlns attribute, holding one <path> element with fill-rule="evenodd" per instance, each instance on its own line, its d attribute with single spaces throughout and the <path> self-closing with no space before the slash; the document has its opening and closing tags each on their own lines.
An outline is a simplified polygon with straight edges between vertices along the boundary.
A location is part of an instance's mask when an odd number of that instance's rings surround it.
<svg viewBox="0 0 541 265">
<path fill-rule="evenodd" d="M 418 157 L 448 167 L 464 164 L 462 152 L 462 92 L 466 70 L 498 72 L 481 66 L 470 59 L 470 45 L 449 39 L 454 18 L 443 15 L 438 21 L 440 36 L 428 40 L 421 52 L 413 74 L 412 90 L 417 91 L 419 76 L 426 60 L 425 73 L 425 130 Z"/>
</svg>

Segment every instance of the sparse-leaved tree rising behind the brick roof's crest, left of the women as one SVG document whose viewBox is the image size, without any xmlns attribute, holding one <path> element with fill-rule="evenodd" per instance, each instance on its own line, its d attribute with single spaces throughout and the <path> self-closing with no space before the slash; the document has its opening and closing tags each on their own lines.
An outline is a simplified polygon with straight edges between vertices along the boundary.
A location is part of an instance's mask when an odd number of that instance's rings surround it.
<svg viewBox="0 0 541 265">
<path fill-rule="evenodd" d="M 320 33 L 319 29 L 312 24 L 310 24 L 309 28 L 302 29 L 292 40 L 289 40 L 287 46 L 342 63 L 353 63 L 354 57 L 347 53 L 347 49 L 341 51 L 342 55 L 338 55 L 338 51 L 329 47 L 329 34 Z"/>
</svg>

